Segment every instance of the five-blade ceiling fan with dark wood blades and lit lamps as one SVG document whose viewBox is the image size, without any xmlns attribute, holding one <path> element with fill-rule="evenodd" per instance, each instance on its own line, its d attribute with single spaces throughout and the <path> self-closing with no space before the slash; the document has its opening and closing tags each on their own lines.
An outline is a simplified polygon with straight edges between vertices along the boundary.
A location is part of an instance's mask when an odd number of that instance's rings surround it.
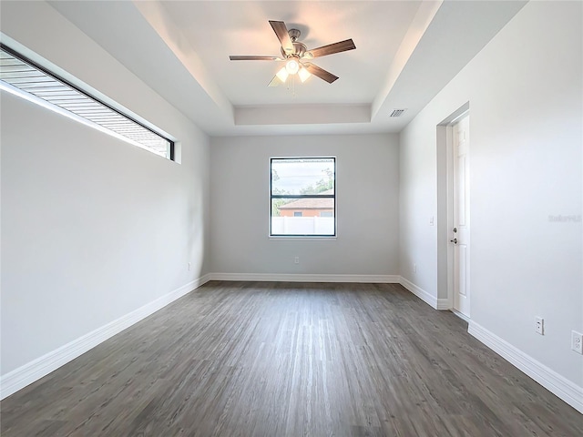
<svg viewBox="0 0 583 437">
<path fill-rule="evenodd" d="M 354 46 L 352 39 L 346 39 L 338 43 L 329 44 L 318 48 L 308 50 L 305 44 L 300 43 L 298 38 L 301 32 L 298 29 L 290 29 L 286 27 L 282 21 L 271 21 L 270 25 L 273 32 L 278 37 L 281 43 L 281 56 L 229 56 L 231 61 L 285 61 L 285 66 L 273 77 L 269 86 L 278 86 L 287 80 L 288 76 L 298 75 L 300 80 L 304 82 L 310 76 L 318 76 L 329 84 L 332 84 L 338 76 L 313 65 L 309 62 L 314 57 L 333 55 L 334 53 L 345 52 L 353 50 Z"/>
</svg>

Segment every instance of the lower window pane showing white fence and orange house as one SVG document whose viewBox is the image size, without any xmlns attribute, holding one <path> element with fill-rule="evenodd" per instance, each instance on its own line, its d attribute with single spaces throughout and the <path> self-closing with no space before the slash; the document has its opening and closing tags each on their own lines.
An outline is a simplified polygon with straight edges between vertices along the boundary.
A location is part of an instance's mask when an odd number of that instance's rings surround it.
<svg viewBox="0 0 583 437">
<path fill-rule="evenodd" d="M 333 236 L 333 211 L 333 198 L 272 198 L 271 235 Z"/>
</svg>

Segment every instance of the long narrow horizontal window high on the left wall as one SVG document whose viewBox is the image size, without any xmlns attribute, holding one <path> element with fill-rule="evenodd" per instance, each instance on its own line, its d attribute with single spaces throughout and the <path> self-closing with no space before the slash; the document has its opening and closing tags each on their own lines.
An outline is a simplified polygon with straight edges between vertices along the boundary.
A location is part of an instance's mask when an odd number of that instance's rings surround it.
<svg viewBox="0 0 583 437">
<path fill-rule="evenodd" d="M 90 96 L 86 91 L 4 44 L 0 44 L 0 89 L 66 114 L 77 121 L 83 120 L 114 137 L 174 160 L 174 143 L 171 140 Z"/>
</svg>

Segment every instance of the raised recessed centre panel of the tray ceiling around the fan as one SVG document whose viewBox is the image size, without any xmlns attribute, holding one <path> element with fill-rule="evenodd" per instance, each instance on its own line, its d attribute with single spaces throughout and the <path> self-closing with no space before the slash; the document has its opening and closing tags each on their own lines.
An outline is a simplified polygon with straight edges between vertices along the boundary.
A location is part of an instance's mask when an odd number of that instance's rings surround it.
<svg viewBox="0 0 583 437">
<path fill-rule="evenodd" d="M 420 4 L 165 2 L 164 7 L 233 105 L 277 105 L 372 102 Z M 353 38 L 356 50 L 312 61 L 341 78 L 328 84 L 312 77 L 295 86 L 294 96 L 286 86 L 266 86 L 281 63 L 230 61 L 228 55 L 281 56 L 270 18 L 299 29 L 308 48 Z"/>
</svg>

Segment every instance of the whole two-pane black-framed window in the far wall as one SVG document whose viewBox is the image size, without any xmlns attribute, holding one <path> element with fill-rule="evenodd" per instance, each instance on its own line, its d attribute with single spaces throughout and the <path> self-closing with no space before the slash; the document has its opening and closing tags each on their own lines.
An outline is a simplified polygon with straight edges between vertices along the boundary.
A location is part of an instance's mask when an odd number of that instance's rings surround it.
<svg viewBox="0 0 583 437">
<path fill-rule="evenodd" d="M 271 158 L 270 236 L 336 236 L 336 158 Z"/>
</svg>

